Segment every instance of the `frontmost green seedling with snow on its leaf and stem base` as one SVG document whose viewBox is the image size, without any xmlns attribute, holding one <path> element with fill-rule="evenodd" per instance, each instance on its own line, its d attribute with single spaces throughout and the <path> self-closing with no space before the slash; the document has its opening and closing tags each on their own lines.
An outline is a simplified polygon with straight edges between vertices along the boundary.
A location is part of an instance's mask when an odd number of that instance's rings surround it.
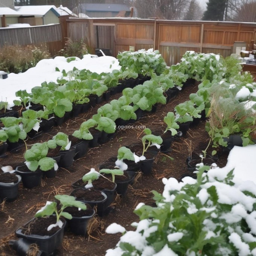
<svg viewBox="0 0 256 256">
<path fill-rule="evenodd" d="M 46 205 L 42 207 L 36 214 L 36 218 L 42 218 L 45 216 L 50 216 L 55 213 L 56 216 L 56 224 L 51 224 L 47 231 L 50 231 L 53 227 L 59 227 L 61 228 L 63 225 L 63 222 L 60 220 L 60 217 L 64 217 L 66 219 L 72 219 L 72 215 L 68 212 L 64 212 L 64 210 L 67 207 L 77 207 L 82 210 L 86 210 L 87 207 L 83 202 L 76 201 L 75 197 L 72 197 L 70 195 L 55 195 L 55 199 L 59 201 L 60 208 L 58 208 L 57 202 L 50 202 L 47 201 Z"/>
</svg>

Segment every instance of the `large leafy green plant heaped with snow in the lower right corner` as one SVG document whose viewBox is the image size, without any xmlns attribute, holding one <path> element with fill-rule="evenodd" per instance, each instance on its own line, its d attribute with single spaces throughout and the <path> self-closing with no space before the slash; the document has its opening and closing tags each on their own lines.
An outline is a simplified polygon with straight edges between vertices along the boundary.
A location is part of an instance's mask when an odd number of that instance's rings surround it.
<svg viewBox="0 0 256 256">
<path fill-rule="evenodd" d="M 154 191 L 156 207 L 140 203 L 140 221 L 106 256 L 256 254 L 256 185 L 233 179 L 233 170 L 201 166 L 197 180 L 163 178 L 163 194 Z M 204 171 L 209 170 L 207 173 Z"/>
</svg>

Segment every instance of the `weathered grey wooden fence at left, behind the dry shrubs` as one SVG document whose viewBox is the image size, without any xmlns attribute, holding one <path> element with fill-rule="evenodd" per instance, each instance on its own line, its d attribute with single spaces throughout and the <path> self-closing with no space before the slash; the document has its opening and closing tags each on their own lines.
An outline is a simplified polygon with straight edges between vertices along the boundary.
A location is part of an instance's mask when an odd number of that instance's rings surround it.
<svg viewBox="0 0 256 256">
<path fill-rule="evenodd" d="M 61 24 L 34 26 L 34 27 L 6 27 L 0 29 L 0 47 L 4 45 L 35 45 L 46 44 L 52 54 L 62 49 Z"/>
</svg>

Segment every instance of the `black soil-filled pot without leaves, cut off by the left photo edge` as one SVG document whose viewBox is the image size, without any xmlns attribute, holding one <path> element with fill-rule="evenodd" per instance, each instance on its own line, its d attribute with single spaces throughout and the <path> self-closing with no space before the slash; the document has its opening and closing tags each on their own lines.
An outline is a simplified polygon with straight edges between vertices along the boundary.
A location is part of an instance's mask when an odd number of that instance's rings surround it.
<svg viewBox="0 0 256 256">
<path fill-rule="evenodd" d="M 6 200 L 7 202 L 14 201 L 18 196 L 18 186 L 21 182 L 21 176 L 18 177 L 17 183 L 2 183 L 0 182 L 0 201 Z"/>
</svg>

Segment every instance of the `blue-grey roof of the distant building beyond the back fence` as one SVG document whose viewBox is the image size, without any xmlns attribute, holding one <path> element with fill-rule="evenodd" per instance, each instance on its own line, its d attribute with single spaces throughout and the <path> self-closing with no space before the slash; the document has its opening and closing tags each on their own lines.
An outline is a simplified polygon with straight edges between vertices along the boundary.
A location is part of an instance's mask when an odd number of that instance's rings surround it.
<svg viewBox="0 0 256 256">
<path fill-rule="evenodd" d="M 84 11 L 98 11 L 98 12 L 120 12 L 128 11 L 130 12 L 130 7 L 128 5 L 119 4 L 108 4 L 108 3 L 82 3 L 81 9 Z"/>
</svg>

